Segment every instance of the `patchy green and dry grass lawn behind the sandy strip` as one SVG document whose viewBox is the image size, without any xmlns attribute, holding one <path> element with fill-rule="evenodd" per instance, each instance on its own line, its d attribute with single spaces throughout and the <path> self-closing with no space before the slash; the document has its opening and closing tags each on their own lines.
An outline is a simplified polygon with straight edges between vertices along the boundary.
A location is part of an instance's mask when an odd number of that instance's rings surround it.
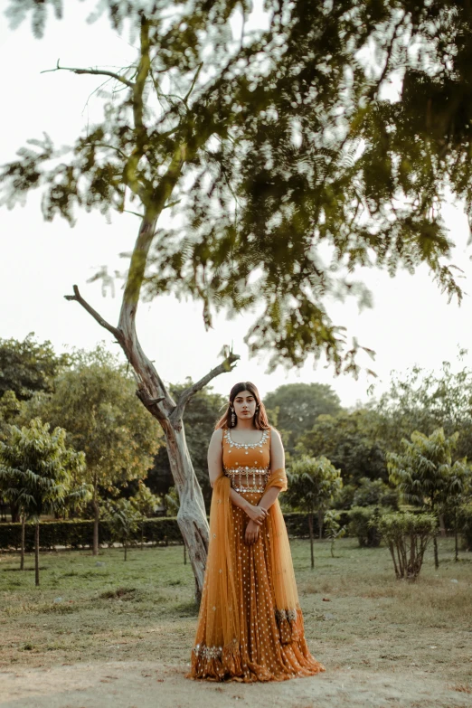
<svg viewBox="0 0 472 708">
<path fill-rule="evenodd" d="M 453 560 L 453 540 L 432 547 L 416 583 L 396 581 L 387 549 L 354 539 L 291 543 L 308 644 L 330 668 L 435 675 L 472 694 L 472 553 Z M 0 556 L 0 666 L 61 666 L 80 661 L 169 661 L 186 666 L 197 609 L 182 546 L 44 552 L 41 586 L 33 556 L 18 571 Z M 472 700 L 472 696 L 471 696 Z"/>
</svg>

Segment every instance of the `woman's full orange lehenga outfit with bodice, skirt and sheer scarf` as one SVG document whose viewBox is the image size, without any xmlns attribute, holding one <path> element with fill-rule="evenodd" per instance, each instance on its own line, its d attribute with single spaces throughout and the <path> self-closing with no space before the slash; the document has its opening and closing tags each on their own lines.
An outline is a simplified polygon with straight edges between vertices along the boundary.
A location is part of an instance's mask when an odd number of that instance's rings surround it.
<svg viewBox="0 0 472 708">
<path fill-rule="evenodd" d="M 287 529 L 278 500 L 247 545 L 248 516 L 230 486 L 257 505 L 270 486 L 287 489 L 284 469 L 270 472 L 270 430 L 244 445 L 223 430 L 223 474 L 213 486 L 210 547 L 189 678 L 284 681 L 325 671 L 311 656 L 298 603 Z"/>
</svg>

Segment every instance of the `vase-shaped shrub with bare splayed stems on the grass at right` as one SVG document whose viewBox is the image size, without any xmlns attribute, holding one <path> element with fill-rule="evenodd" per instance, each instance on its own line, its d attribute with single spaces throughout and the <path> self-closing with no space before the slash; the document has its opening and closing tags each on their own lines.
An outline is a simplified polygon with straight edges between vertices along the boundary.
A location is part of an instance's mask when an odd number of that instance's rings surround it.
<svg viewBox="0 0 472 708">
<path fill-rule="evenodd" d="M 430 538 L 436 533 L 433 514 L 383 514 L 373 524 L 387 543 L 398 579 L 415 581 Z"/>
</svg>

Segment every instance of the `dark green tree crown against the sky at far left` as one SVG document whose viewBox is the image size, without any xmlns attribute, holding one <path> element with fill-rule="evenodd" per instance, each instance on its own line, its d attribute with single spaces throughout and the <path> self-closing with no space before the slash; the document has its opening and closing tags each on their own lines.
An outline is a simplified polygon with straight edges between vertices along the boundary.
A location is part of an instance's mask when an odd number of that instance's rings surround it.
<svg viewBox="0 0 472 708">
<path fill-rule="evenodd" d="M 0 399 L 13 391 L 19 401 L 34 392 L 52 392 L 54 377 L 70 363 L 69 354 L 55 354 L 51 342 L 35 342 L 34 333 L 24 338 L 0 339 Z"/>
</svg>

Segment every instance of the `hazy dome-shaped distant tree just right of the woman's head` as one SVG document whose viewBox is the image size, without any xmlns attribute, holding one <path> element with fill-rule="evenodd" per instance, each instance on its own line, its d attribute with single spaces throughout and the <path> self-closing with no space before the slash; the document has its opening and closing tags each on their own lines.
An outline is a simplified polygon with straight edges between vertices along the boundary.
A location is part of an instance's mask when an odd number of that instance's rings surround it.
<svg viewBox="0 0 472 708">
<path fill-rule="evenodd" d="M 264 405 L 277 411 L 278 429 L 285 433 L 292 453 L 300 435 L 313 428 L 319 415 L 341 411 L 337 393 L 326 383 L 285 383 L 265 396 Z"/>
</svg>

